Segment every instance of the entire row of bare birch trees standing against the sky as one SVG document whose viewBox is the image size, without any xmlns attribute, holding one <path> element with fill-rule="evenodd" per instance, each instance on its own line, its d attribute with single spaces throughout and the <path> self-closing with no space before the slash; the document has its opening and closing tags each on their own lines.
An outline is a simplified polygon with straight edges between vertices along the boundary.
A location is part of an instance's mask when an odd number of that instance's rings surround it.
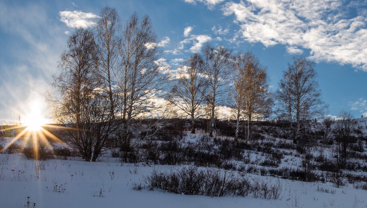
<svg viewBox="0 0 367 208">
<path fill-rule="evenodd" d="M 235 141 L 241 126 L 250 139 L 252 121 L 275 113 L 289 121 L 297 143 L 307 136 L 305 121 L 325 114 L 315 63 L 302 56 L 288 63 L 276 92 L 269 91 L 267 68 L 251 51 L 206 44 L 175 74 L 160 65 L 160 58 L 148 16 L 133 13 L 122 23 L 114 8 L 105 7 L 92 28 L 77 28 L 61 52 L 48 96 L 63 140 L 95 161 L 111 142 L 132 151 L 133 139 L 154 134 L 166 118 L 189 118 L 192 134 L 195 121 L 207 118 L 212 137 L 218 108 L 228 106 Z"/>
</svg>

